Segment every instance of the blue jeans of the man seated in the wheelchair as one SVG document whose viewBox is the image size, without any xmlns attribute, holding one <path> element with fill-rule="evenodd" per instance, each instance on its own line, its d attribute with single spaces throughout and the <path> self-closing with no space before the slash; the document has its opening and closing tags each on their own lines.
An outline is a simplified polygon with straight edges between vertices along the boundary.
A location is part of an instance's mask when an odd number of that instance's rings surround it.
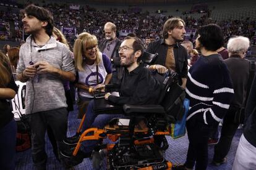
<svg viewBox="0 0 256 170">
<path fill-rule="evenodd" d="M 87 107 L 87 113 L 85 115 L 85 121 L 83 122 L 82 131 L 87 130 L 91 127 L 98 127 L 103 129 L 106 124 L 113 118 L 124 118 L 122 114 L 96 114 L 93 111 L 94 100 L 91 100 Z M 95 146 L 98 144 L 98 140 L 85 140 L 82 143 L 82 151 L 85 153 L 92 152 Z"/>
</svg>

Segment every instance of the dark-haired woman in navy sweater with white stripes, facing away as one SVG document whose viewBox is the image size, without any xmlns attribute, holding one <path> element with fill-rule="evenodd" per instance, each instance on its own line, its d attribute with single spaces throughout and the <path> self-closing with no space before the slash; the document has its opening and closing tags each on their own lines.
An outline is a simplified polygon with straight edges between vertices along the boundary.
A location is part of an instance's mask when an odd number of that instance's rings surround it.
<svg viewBox="0 0 256 170">
<path fill-rule="evenodd" d="M 197 62 L 190 67 L 186 94 L 190 100 L 187 116 L 189 149 L 186 163 L 178 169 L 207 169 L 208 134 L 229 108 L 233 86 L 229 71 L 216 52 L 223 46 L 223 34 L 218 25 L 205 25 L 198 29 L 195 48 L 201 51 Z"/>
</svg>

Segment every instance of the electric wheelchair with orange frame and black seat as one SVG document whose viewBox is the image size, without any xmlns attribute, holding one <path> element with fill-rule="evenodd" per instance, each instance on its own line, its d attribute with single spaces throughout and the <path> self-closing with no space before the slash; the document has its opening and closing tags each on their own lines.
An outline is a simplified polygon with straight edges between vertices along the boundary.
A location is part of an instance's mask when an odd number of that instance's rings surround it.
<svg viewBox="0 0 256 170">
<path fill-rule="evenodd" d="M 170 134 L 171 126 L 168 125 L 176 123 L 183 116 L 183 105 L 177 103 L 183 103 L 185 92 L 177 84 L 176 73 L 169 73 L 166 78 L 160 76 L 158 79 L 163 83 L 158 105 L 117 105 L 117 109 L 111 108 L 109 114 L 121 111 L 129 119 L 115 118 L 103 129 L 90 128 L 81 134 L 80 129 L 86 116 L 84 115 L 77 129 L 72 156 L 77 155 L 83 141 L 99 140 L 93 154 L 93 168 L 95 169 L 100 169 L 102 153 L 105 153 L 107 157 L 107 169 L 172 169 L 171 161 L 163 157 L 163 152 L 168 148 L 168 142 L 164 136 Z M 97 100 L 104 101 L 105 99 L 95 99 L 95 103 Z M 109 103 L 109 105 L 114 104 Z M 108 110 L 96 108 L 94 111 L 98 114 L 108 112 Z M 162 136 L 160 144 L 156 144 L 154 140 L 156 136 Z M 103 144 L 105 138 L 115 143 Z"/>
</svg>

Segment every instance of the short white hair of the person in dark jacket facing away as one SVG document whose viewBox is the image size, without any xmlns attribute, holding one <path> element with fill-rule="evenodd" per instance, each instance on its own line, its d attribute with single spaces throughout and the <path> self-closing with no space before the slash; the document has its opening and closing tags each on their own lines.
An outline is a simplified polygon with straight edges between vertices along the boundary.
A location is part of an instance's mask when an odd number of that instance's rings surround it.
<svg viewBox="0 0 256 170">
<path fill-rule="evenodd" d="M 236 36 L 228 40 L 228 52 L 231 54 L 247 51 L 249 46 L 250 40 L 244 36 Z"/>
</svg>

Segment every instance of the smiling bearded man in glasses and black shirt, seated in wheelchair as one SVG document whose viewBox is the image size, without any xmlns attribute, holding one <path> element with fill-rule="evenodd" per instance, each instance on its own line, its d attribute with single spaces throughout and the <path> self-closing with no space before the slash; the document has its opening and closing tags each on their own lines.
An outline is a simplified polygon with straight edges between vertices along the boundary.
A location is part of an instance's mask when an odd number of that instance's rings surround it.
<svg viewBox="0 0 256 170">
<path fill-rule="evenodd" d="M 109 100 L 111 103 L 116 103 L 119 105 L 122 104 L 130 104 L 130 105 L 152 105 L 159 103 L 159 97 L 161 94 L 161 85 L 160 83 L 151 76 L 150 71 L 143 67 L 140 64 L 140 57 L 143 54 L 143 44 L 139 38 L 131 38 L 127 37 L 122 42 L 119 48 L 119 56 L 121 60 L 121 65 L 126 68 L 124 74 L 122 76 L 121 84 L 115 84 L 115 87 L 119 87 L 119 94 L 120 96 L 111 95 L 110 93 L 105 94 L 105 100 Z M 110 86 L 110 85 L 109 85 Z M 101 85 L 97 86 L 96 88 L 101 89 L 105 88 L 108 89 L 108 85 Z M 103 129 L 106 124 L 113 118 L 127 118 L 130 115 L 123 115 L 123 114 L 100 114 L 95 113 L 93 110 L 94 101 L 89 103 L 87 108 L 87 113 L 83 123 L 83 134 L 92 134 L 92 132 L 96 132 L 98 130 L 99 133 L 106 134 L 105 130 L 99 131 Z M 132 115 L 136 117 L 136 115 Z M 134 119 L 134 121 L 138 121 L 138 119 Z M 131 121 L 132 122 L 132 121 Z M 142 121 L 140 121 L 142 122 Z M 120 122 L 119 124 L 124 123 L 124 121 Z M 118 124 L 118 123 L 117 123 Z M 130 123 L 131 124 L 131 123 Z M 93 129 L 92 127 L 97 127 L 95 131 L 90 131 Z M 134 123 L 135 127 L 135 123 Z M 129 139 L 129 133 L 134 131 L 131 128 L 130 132 L 124 132 L 126 137 L 122 139 L 122 141 L 131 141 Z M 109 127 L 110 128 L 110 127 Z M 130 128 L 130 127 L 129 127 Z M 95 128 L 94 128 L 95 129 Z M 136 129 L 136 127 L 135 127 Z M 90 132 L 86 132 L 90 131 Z M 152 130 L 153 132 L 153 130 Z M 116 132 L 115 132 L 116 133 Z M 128 135 L 128 138 L 127 138 Z M 95 133 L 94 133 L 95 136 Z M 104 136 L 98 136 L 98 139 L 103 138 Z M 82 141 L 82 136 L 80 140 Z M 87 158 L 91 155 L 92 151 L 95 149 L 98 141 L 95 139 L 92 140 L 84 140 L 82 143 L 82 147 L 80 147 L 79 140 L 79 147 L 76 147 L 75 150 L 62 150 L 61 154 L 66 156 L 67 158 L 71 158 L 69 160 L 69 164 L 76 165 L 82 162 L 83 158 Z M 119 140 L 120 142 L 120 140 Z M 128 142 L 128 143 L 129 143 Z M 125 142 L 124 142 L 125 143 Z M 75 154 L 74 154 L 75 153 Z M 159 157 L 159 155 L 158 155 Z"/>
</svg>

